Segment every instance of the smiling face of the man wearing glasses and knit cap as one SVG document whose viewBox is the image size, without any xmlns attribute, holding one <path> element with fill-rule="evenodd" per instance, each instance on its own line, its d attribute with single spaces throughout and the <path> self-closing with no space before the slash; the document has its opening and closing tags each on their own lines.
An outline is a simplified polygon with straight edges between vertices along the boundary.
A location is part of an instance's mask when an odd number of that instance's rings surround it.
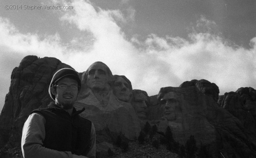
<svg viewBox="0 0 256 158">
<path fill-rule="evenodd" d="M 78 88 L 72 89 L 71 86 L 78 86 L 77 81 L 73 78 L 62 78 L 57 82 L 56 89 L 52 89 L 52 93 L 55 95 L 56 104 L 62 105 L 64 109 L 71 109 L 77 98 Z M 67 89 L 62 89 L 61 85 L 66 85 Z"/>
</svg>

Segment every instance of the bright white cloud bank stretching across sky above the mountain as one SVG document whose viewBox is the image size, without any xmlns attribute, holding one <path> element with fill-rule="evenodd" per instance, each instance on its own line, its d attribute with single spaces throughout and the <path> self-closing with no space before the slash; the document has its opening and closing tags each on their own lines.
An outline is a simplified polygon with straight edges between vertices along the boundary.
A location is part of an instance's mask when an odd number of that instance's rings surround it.
<svg viewBox="0 0 256 158">
<path fill-rule="evenodd" d="M 23 57 L 37 55 L 56 57 L 79 72 L 93 62 L 102 61 L 113 74 L 126 75 L 134 89 L 145 90 L 149 95 L 157 94 L 161 87 L 177 87 L 193 79 L 216 83 L 221 94 L 240 87 L 256 88 L 256 37 L 251 39 L 251 49 L 230 45 L 216 31 L 216 23 L 201 16 L 187 39 L 155 34 L 145 40 L 139 40 L 140 35 L 128 39 L 121 30 L 129 17 L 122 11 L 103 10 L 83 0 L 58 3 L 74 9 L 59 11 L 56 20 L 68 22 L 88 36 L 63 43 L 59 33 L 20 33 L 14 23 L 0 17 L 1 67 L 9 77 L 0 79 L 3 85 L 9 87 L 11 71 Z M 136 14 L 132 8 L 130 13 L 130 18 Z M 15 55 L 8 55 L 10 53 Z M 10 65 L 3 60 L 15 62 Z M 0 88 L 0 97 L 4 100 L 8 89 L 7 86 Z"/>
</svg>

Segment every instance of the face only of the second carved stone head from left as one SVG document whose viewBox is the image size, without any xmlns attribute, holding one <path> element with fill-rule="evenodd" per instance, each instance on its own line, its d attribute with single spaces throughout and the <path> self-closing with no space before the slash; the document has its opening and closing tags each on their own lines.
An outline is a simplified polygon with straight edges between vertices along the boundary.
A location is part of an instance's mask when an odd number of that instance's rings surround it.
<svg viewBox="0 0 256 158">
<path fill-rule="evenodd" d="M 117 77 L 113 92 L 116 98 L 120 101 L 128 102 L 130 99 L 131 92 L 129 90 L 129 85 L 123 77 Z"/>
</svg>

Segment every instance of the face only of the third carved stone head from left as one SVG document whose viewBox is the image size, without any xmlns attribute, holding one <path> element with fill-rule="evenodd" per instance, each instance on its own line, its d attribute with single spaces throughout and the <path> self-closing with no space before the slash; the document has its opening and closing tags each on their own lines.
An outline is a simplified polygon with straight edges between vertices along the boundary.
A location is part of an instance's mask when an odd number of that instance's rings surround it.
<svg viewBox="0 0 256 158">
<path fill-rule="evenodd" d="M 143 93 L 134 93 L 134 102 L 132 103 L 133 108 L 137 112 L 137 115 L 140 119 L 146 119 L 146 110 L 147 110 L 147 96 Z"/>
</svg>

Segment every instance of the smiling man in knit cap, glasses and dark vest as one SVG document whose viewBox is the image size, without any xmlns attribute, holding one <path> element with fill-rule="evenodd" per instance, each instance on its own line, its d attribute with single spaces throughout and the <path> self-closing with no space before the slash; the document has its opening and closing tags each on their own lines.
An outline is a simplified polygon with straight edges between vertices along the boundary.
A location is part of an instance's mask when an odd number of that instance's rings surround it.
<svg viewBox="0 0 256 158">
<path fill-rule="evenodd" d="M 55 103 L 31 112 L 22 132 L 24 158 L 95 158 L 96 136 L 92 122 L 73 107 L 81 80 L 73 69 L 58 70 L 49 86 Z"/>
</svg>

